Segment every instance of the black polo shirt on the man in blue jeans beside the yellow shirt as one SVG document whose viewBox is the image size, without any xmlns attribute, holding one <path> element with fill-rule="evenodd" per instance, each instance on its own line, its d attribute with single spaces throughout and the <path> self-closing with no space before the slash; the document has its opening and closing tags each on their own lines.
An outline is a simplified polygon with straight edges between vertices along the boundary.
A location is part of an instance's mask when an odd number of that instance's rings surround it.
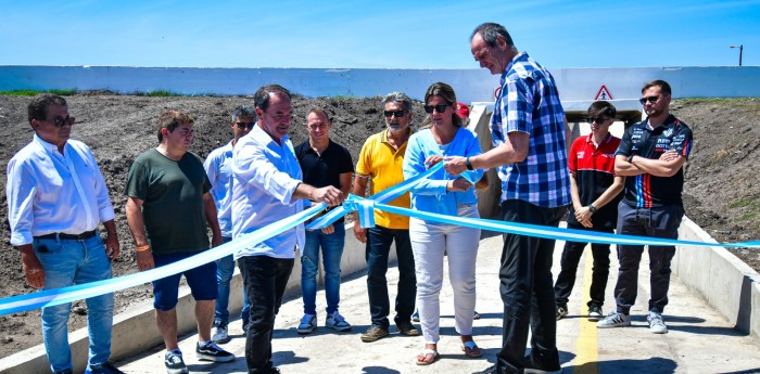
<svg viewBox="0 0 760 374">
<path fill-rule="evenodd" d="M 354 163 L 351 153 L 343 145 L 332 140 L 321 155 L 317 155 L 308 143 L 308 140 L 299 144 L 295 149 L 295 157 L 301 164 L 303 182 L 315 188 L 332 185 L 341 188 L 340 175 L 354 172 Z M 343 222 L 343 218 L 335 223 Z"/>
</svg>

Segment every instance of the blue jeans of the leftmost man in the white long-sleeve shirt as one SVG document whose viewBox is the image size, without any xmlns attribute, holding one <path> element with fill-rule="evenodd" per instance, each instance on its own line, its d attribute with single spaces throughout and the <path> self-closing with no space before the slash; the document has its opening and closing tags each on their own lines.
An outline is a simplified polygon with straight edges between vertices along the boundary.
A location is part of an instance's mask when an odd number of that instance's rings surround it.
<svg viewBox="0 0 760 374">
<path fill-rule="evenodd" d="M 33 247 L 45 270 L 42 289 L 111 278 L 111 261 L 105 256 L 100 235 L 85 241 L 35 238 Z M 113 294 L 105 294 L 88 298 L 85 302 L 90 337 L 88 367 L 99 366 L 111 357 L 114 298 Z M 42 338 L 50 369 L 54 373 L 73 370 L 67 328 L 71 309 L 71 302 L 42 308 Z"/>
</svg>

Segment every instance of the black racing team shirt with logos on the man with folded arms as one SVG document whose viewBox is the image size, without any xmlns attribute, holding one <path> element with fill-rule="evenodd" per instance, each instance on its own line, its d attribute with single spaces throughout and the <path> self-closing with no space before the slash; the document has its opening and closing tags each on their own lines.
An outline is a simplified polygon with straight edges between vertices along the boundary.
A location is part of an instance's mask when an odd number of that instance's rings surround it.
<svg viewBox="0 0 760 374">
<path fill-rule="evenodd" d="M 616 155 L 636 155 L 650 159 L 675 150 L 684 157 L 692 151 L 692 129 L 672 114 L 664 124 L 651 130 L 647 119 L 631 125 L 623 133 Z M 625 178 L 623 202 L 634 208 L 653 208 L 675 204 L 683 206 L 681 192 L 684 186 L 683 168 L 672 177 L 655 177 L 649 173 Z"/>
</svg>

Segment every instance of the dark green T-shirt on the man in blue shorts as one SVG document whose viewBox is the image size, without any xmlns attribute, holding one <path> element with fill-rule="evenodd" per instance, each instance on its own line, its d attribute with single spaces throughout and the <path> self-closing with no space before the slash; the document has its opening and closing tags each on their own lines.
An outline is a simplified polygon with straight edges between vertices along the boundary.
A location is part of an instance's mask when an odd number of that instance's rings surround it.
<svg viewBox="0 0 760 374">
<path fill-rule="evenodd" d="M 142 203 L 142 218 L 154 255 L 208 248 L 203 194 L 211 182 L 203 162 L 187 152 L 178 162 L 156 149 L 135 159 L 125 195 Z"/>
</svg>

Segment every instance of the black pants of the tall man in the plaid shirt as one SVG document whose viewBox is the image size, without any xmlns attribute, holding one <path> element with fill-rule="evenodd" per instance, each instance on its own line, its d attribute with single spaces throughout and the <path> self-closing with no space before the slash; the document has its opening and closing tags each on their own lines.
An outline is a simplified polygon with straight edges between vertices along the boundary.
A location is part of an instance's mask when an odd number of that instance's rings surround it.
<svg viewBox="0 0 760 374">
<path fill-rule="evenodd" d="M 502 203 L 505 221 L 559 225 L 567 207 L 542 208 L 524 201 Z M 530 326 L 531 354 L 545 367 L 559 369 L 556 301 L 552 278 L 554 240 L 504 235 L 499 291 L 504 302 L 504 332 L 498 352 L 498 373 L 522 373 Z"/>
</svg>

